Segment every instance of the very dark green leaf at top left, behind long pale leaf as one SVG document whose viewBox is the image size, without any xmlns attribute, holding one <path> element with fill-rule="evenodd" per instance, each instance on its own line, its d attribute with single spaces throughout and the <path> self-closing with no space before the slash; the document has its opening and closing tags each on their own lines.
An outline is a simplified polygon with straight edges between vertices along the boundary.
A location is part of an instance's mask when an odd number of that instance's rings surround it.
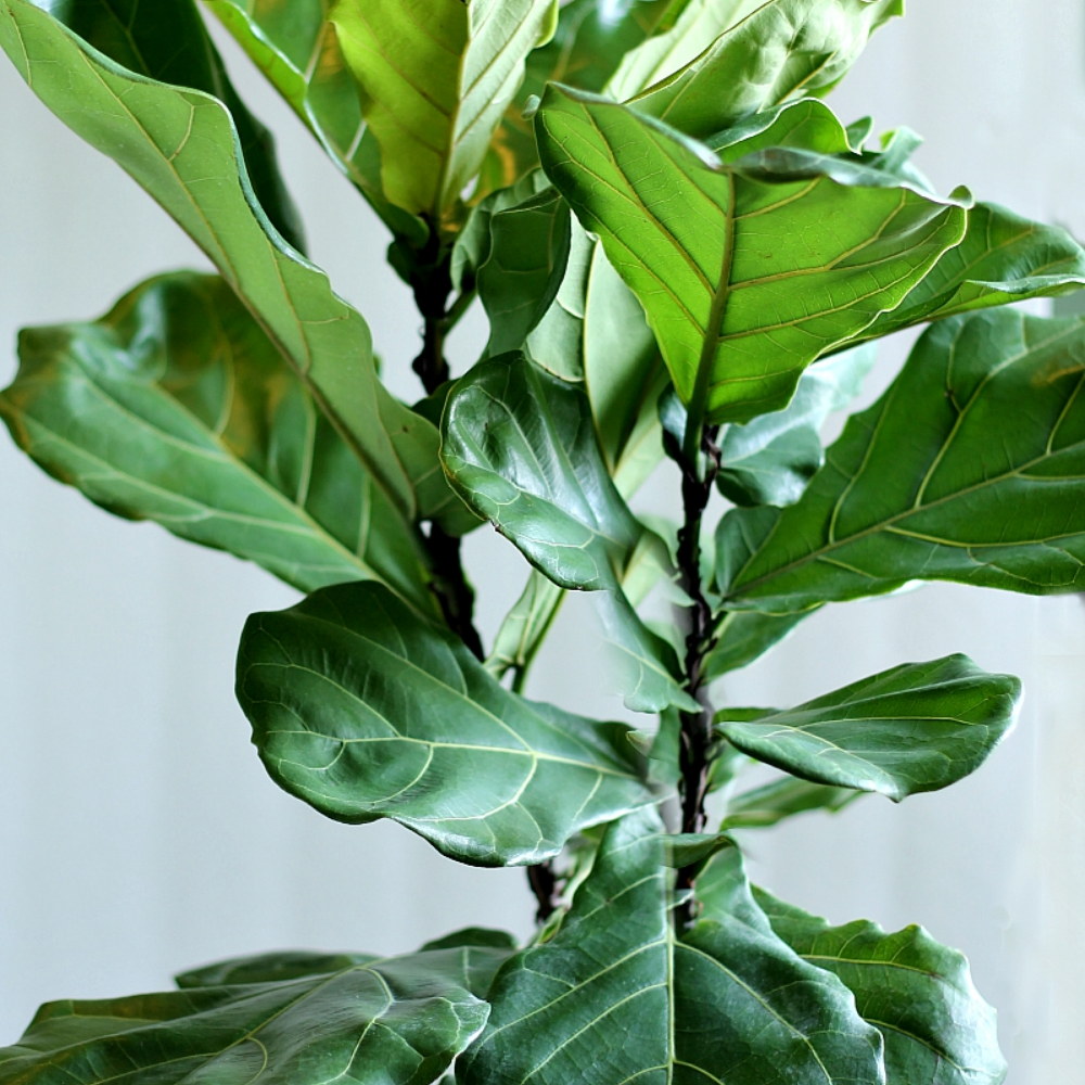
<svg viewBox="0 0 1085 1085">
<path fill-rule="evenodd" d="M 260 207 L 298 251 L 302 224 L 276 165 L 271 133 L 238 97 L 193 0 L 54 0 L 42 3 L 84 41 L 150 79 L 213 94 L 229 108 Z"/>
</svg>

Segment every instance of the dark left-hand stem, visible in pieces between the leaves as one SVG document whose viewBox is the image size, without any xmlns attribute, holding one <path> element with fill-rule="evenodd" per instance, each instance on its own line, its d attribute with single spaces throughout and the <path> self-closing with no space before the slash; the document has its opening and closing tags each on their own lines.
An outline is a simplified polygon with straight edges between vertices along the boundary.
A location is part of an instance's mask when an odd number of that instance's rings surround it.
<svg viewBox="0 0 1085 1085">
<path fill-rule="evenodd" d="M 470 304 L 470 297 L 457 298 L 451 309 L 448 297 L 452 292 L 451 253 L 439 244 L 438 233 L 431 230 L 426 247 L 416 254 L 410 284 L 414 304 L 422 316 L 422 349 L 411 368 L 422 380 L 426 395 L 433 395 L 448 380 L 445 358 L 445 336 L 455 327 Z M 474 588 L 463 571 L 460 539 L 449 535 L 437 523 L 430 524 L 423 536 L 432 564 L 432 587 L 448 627 L 482 660 L 485 652 L 474 625 Z M 545 922 L 557 908 L 558 880 L 553 865 L 540 863 L 527 868 L 527 881 L 535 894 L 536 921 Z"/>
</svg>

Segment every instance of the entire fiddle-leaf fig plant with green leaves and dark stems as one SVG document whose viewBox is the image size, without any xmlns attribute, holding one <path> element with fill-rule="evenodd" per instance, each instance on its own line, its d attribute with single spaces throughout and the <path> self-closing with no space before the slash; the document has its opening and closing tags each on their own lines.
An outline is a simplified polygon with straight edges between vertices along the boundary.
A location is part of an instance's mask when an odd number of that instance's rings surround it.
<svg viewBox="0 0 1085 1085">
<path fill-rule="evenodd" d="M 52 1003 L 0 1051 L 0 1082 L 1003 1080 L 958 953 L 777 901 L 733 833 L 956 782 L 1011 726 L 1017 679 L 950 656 L 797 706 L 710 689 L 829 602 L 932 579 L 1082 589 L 1085 324 L 1005 306 L 1080 288 L 1085 254 L 934 192 L 917 137 L 872 139 L 826 104 L 901 14 L 0 0 L 29 88 L 218 269 L 24 331 L 0 395 L 12 435 L 103 508 L 298 588 L 239 649 L 270 776 L 329 817 L 525 866 L 539 919 L 526 945 L 471 929 Z M 388 228 L 423 319 L 418 403 L 385 390 L 363 316 L 304 255 L 206 17 Z M 452 374 L 444 341 L 476 299 L 489 341 Z M 917 326 L 822 448 L 872 344 Z M 673 531 L 628 503 L 666 458 Z M 488 646 L 460 560 L 486 522 L 526 562 Z M 641 728 L 524 697 L 567 591 L 598 602 Z M 667 627 L 641 614 L 652 591 Z M 758 763 L 778 775 L 751 789 Z"/>
</svg>

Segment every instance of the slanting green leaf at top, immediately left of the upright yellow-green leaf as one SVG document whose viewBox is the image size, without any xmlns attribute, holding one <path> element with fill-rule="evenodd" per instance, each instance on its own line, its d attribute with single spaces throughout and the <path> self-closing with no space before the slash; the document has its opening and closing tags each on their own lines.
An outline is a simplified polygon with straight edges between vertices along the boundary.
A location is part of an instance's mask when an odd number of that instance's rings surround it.
<svg viewBox="0 0 1085 1085">
<path fill-rule="evenodd" d="M 328 0 L 204 0 L 397 237 L 421 247 L 429 228 L 384 199 L 381 152 L 328 17 Z"/>
</svg>

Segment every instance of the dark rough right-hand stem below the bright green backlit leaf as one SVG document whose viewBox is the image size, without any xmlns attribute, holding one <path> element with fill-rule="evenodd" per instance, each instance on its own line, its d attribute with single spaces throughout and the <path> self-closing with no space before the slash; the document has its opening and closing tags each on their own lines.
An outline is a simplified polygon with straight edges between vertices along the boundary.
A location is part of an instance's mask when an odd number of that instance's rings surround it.
<svg viewBox="0 0 1085 1085">
<path fill-rule="evenodd" d="M 679 462 L 682 481 L 684 523 L 678 532 L 678 571 L 682 587 L 689 596 L 689 631 L 686 636 L 686 691 L 697 701 L 702 698 L 702 672 L 704 659 L 712 648 L 712 608 L 704 597 L 701 582 L 701 522 L 712 496 L 712 487 L 719 471 L 719 450 L 715 446 L 718 426 L 706 427 L 700 447 L 706 455 L 707 465 L 703 477 L 700 456 Z M 703 832 L 705 826 L 704 799 L 709 790 L 709 770 L 712 764 L 713 736 L 712 712 L 703 707 L 700 712 L 681 714 L 678 762 L 681 769 L 681 831 Z M 678 871 L 676 890 L 679 893 L 692 889 L 695 871 L 685 868 Z M 687 899 L 676 914 L 679 929 L 692 923 L 693 904 Z"/>
</svg>

